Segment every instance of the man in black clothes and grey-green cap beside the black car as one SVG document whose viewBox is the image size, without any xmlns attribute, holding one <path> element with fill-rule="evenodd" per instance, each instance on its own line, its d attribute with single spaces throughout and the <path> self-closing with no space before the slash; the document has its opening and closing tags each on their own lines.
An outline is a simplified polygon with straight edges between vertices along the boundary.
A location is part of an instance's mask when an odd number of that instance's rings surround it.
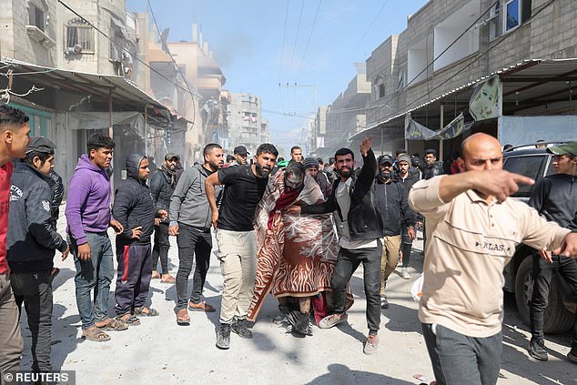
<svg viewBox="0 0 577 385">
<path fill-rule="evenodd" d="M 529 206 L 562 228 L 577 230 L 577 142 L 548 147 L 553 154 L 555 175 L 544 177 L 535 186 Z M 542 258 L 544 257 L 544 258 Z M 555 272 L 559 272 L 577 296 L 577 260 L 541 251 L 533 255 L 533 294 L 531 298 L 531 342 L 529 354 L 535 360 L 548 360 L 543 336 L 543 315 Z M 577 319 L 573 322 L 572 349 L 567 358 L 577 363 Z"/>
</svg>

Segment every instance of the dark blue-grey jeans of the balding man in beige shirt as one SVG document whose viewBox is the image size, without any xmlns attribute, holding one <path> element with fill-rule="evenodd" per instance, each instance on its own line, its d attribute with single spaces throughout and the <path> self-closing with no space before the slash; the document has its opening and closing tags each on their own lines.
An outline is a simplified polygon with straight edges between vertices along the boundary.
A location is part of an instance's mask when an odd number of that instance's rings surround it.
<svg viewBox="0 0 577 385">
<path fill-rule="evenodd" d="M 474 338 L 439 324 L 421 324 L 437 385 L 494 385 L 503 351 L 501 331 Z"/>
</svg>

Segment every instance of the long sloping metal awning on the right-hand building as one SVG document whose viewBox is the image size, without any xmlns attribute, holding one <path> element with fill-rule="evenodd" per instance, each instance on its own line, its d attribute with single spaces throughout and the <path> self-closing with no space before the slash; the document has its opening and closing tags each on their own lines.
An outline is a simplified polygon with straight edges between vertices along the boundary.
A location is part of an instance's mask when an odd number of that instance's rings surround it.
<svg viewBox="0 0 577 385">
<path fill-rule="evenodd" d="M 577 59 L 523 60 L 453 88 L 419 106 L 401 110 L 398 114 L 386 117 L 352 135 L 349 140 L 376 134 L 381 127 L 403 125 L 406 114 L 418 112 L 441 101 L 454 103 L 458 106 L 457 109 L 464 111 L 467 109 L 474 86 L 494 75 L 501 78 L 503 115 L 512 115 L 531 106 L 558 103 L 563 98 L 568 98 L 569 88 L 577 88 Z M 575 86 L 571 86 L 571 82 L 574 82 Z"/>
</svg>

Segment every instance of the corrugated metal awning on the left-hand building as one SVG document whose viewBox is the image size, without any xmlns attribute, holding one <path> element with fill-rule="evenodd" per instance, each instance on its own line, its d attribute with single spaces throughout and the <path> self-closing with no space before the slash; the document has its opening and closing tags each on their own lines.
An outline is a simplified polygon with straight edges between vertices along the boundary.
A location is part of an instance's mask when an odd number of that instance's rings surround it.
<svg viewBox="0 0 577 385">
<path fill-rule="evenodd" d="M 73 93 L 108 100 L 111 92 L 115 105 L 127 110 L 141 110 L 144 107 L 156 108 L 160 114 L 170 120 L 170 112 L 153 96 L 138 88 L 137 84 L 124 76 L 89 74 L 79 71 L 36 66 L 15 59 L 2 57 L 2 72 L 13 69 L 15 75 L 25 73 L 26 79 L 36 86 L 57 86 Z"/>
</svg>

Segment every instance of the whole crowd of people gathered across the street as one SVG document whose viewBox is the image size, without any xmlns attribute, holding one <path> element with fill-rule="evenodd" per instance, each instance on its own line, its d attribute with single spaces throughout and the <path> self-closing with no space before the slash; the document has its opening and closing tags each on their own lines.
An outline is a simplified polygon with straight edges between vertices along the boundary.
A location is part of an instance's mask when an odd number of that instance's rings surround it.
<svg viewBox="0 0 577 385">
<path fill-rule="evenodd" d="M 463 141 L 450 175 L 433 149 L 424 162 L 405 149 L 376 157 L 369 138 L 359 145 L 362 167 L 355 167 L 349 148 L 323 164 L 296 146 L 288 161 L 271 144 L 260 145 L 251 160 L 239 146 L 225 163 L 223 148 L 208 144 L 203 162 L 180 173 L 177 154 L 168 153 L 154 170 L 150 158 L 133 154 L 114 199 L 107 170 L 115 143 L 94 134 L 69 182 L 63 238 L 56 231 L 64 195 L 54 170 L 56 146 L 45 137 L 31 140 L 29 131 L 22 111 L 0 106 L 0 372 L 20 368 L 23 304 L 32 370 L 52 370 L 56 250 L 63 260 L 74 256 L 82 338 L 102 342 L 159 315 L 146 305 L 151 279 L 176 284 L 177 325 L 190 324 L 188 311 L 217 311 L 202 295 L 216 232 L 221 350 L 230 348 L 231 332 L 252 338 L 248 321 L 258 319 L 268 294 L 278 300 L 275 321 L 301 337 L 312 335 L 313 323 L 329 329 L 345 322 L 353 305 L 349 281 L 362 264 L 369 330 L 363 352 L 372 354 L 379 349 L 381 309 L 389 307 L 387 281 L 399 263 L 400 277 L 410 279 L 412 242 L 426 222 L 419 318 L 438 384 L 496 383 L 502 269 L 519 244 L 541 250 L 533 262 L 532 357 L 547 360 L 543 311 L 552 271 L 560 269 L 577 289 L 575 142 L 547 148 L 557 175 L 535 187 L 530 208 L 508 197 L 534 181 L 502 170 L 501 145 L 485 134 Z M 108 228 L 116 232 L 116 252 Z M 171 236 L 176 278 L 168 269 Z M 575 325 L 568 358 L 577 362 Z"/>
</svg>

